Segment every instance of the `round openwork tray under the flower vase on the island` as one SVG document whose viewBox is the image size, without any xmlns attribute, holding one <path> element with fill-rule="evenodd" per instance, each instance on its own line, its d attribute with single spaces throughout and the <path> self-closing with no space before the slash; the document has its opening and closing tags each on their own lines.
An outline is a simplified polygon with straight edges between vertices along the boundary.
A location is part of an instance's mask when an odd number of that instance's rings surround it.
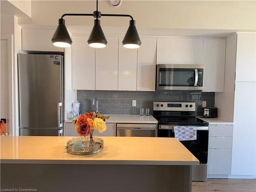
<svg viewBox="0 0 256 192">
<path fill-rule="evenodd" d="M 66 150 L 74 155 L 99 153 L 103 150 L 103 139 L 98 137 L 93 137 L 93 139 L 94 143 L 92 144 L 90 137 L 75 137 L 67 142 Z"/>
</svg>

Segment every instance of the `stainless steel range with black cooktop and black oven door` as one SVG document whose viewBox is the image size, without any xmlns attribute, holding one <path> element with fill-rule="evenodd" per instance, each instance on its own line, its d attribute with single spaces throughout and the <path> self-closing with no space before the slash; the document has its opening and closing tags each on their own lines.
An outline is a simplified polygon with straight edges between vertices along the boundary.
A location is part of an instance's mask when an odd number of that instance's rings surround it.
<svg viewBox="0 0 256 192">
<path fill-rule="evenodd" d="M 195 126 L 197 139 L 181 143 L 200 161 L 193 166 L 193 181 L 207 179 L 208 123 L 195 117 L 195 102 L 154 101 L 154 117 L 158 120 L 158 137 L 175 137 L 174 126 Z"/>
</svg>

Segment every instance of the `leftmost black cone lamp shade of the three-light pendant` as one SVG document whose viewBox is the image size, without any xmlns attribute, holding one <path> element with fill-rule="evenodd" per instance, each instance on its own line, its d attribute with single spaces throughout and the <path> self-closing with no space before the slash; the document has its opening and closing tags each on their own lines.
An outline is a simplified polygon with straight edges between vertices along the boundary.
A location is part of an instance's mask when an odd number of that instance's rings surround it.
<svg viewBox="0 0 256 192">
<path fill-rule="evenodd" d="M 65 19 L 59 19 L 59 25 L 52 37 L 53 45 L 56 47 L 69 47 L 72 44 L 71 37 L 65 26 Z"/>
</svg>

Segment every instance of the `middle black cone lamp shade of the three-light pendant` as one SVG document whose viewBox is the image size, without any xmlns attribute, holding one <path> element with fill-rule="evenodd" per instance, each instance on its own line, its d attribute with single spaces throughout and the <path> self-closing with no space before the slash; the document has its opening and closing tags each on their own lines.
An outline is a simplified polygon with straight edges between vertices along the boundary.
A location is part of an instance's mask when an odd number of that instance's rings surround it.
<svg viewBox="0 0 256 192">
<path fill-rule="evenodd" d="M 108 41 L 106 41 L 106 37 L 100 27 L 99 19 L 94 20 L 94 26 L 87 42 L 89 46 L 93 48 L 104 48 L 106 47 L 106 44 L 108 44 Z"/>
</svg>

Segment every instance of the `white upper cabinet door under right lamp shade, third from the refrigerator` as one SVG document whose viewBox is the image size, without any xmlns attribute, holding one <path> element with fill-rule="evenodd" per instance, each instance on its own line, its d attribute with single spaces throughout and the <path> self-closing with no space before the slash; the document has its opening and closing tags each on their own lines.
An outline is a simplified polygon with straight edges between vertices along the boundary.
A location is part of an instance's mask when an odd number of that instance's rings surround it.
<svg viewBox="0 0 256 192">
<path fill-rule="evenodd" d="M 137 49 L 123 47 L 119 38 L 118 90 L 136 91 L 137 83 Z"/>
</svg>

